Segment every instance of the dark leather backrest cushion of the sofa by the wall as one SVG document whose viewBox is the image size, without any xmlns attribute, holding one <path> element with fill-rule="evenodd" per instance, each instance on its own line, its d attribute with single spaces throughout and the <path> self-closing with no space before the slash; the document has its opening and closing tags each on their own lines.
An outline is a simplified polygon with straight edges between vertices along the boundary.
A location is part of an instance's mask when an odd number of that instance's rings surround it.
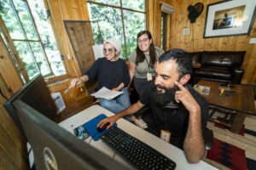
<svg viewBox="0 0 256 170">
<path fill-rule="evenodd" d="M 203 51 L 201 65 L 241 67 L 245 51 Z"/>
</svg>

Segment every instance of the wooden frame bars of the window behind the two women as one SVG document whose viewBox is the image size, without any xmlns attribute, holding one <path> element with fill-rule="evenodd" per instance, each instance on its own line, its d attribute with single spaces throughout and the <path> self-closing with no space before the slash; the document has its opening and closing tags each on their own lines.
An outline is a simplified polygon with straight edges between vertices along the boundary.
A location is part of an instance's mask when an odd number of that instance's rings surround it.
<svg viewBox="0 0 256 170">
<path fill-rule="evenodd" d="M 125 36 L 125 20 L 124 20 L 124 9 L 131 11 L 131 12 L 137 12 L 137 13 L 141 13 L 141 14 L 145 14 L 145 24 L 146 24 L 146 29 L 148 30 L 148 0 L 144 0 L 144 5 L 145 5 L 145 11 L 138 11 L 135 9 L 131 9 L 131 8 L 123 8 L 123 4 L 122 4 L 122 0 L 120 1 L 120 6 L 114 6 L 114 5 L 109 5 L 106 3 L 97 3 L 97 2 L 93 2 L 90 0 L 87 0 L 87 3 L 94 3 L 97 5 L 102 5 L 102 6 L 106 6 L 106 7 L 110 7 L 110 8 L 119 8 L 121 9 L 121 18 L 122 18 L 122 25 L 123 25 L 123 30 L 124 30 L 124 40 L 125 40 L 125 59 L 128 59 L 128 53 L 127 53 L 127 42 L 126 42 L 126 36 Z M 89 7 L 88 7 L 89 8 Z"/>
</svg>

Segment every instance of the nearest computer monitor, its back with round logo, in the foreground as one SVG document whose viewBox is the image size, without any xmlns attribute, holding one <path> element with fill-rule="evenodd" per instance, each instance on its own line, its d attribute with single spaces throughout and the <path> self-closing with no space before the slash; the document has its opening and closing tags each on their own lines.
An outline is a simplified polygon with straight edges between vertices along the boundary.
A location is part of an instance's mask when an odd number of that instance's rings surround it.
<svg viewBox="0 0 256 170">
<path fill-rule="evenodd" d="M 26 103 L 16 100 L 14 105 L 27 140 L 32 145 L 37 170 L 128 169 L 77 139 Z"/>
</svg>

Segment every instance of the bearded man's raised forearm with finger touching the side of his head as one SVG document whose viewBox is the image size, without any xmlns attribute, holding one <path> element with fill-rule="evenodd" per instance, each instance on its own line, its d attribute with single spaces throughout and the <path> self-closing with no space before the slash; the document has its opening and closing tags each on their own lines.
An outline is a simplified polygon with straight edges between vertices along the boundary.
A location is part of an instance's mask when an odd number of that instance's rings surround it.
<svg viewBox="0 0 256 170">
<path fill-rule="evenodd" d="M 189 163 L 198 163 L 205 154 L 205 144 L 201 129 L 201 108 L 179 82 L 175 82 L 180 88 L 175 94 L 177 102 L 182 102 L 189 111 L 189 126 L 183 142 L 183 150 Z"/>
</svg>

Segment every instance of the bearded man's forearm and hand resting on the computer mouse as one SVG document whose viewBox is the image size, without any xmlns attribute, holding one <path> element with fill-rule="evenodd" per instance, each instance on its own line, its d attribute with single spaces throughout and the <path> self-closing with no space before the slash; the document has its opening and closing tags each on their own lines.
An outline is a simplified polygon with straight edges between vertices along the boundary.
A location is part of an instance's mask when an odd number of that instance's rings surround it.
<svg viewBox="0 0 256 170">
<path fill-rule="evenodd" d="M 142 109 L 143 106 L 144 105 L 140 102 L 140 100 L 138 100 L 137 103 L 126 108 L 124 111 L 121 111 L 114 116 L 110 116 L 110 117 L 103 119 L 101 122 L 98 123 L 97 127 L 102 127 L 105 123 L 109 122 L 110 124 L 107 127 L 107 129 L 108 129 L 109 127 L 112 127 L 113 124 L 119 120 L 119 118 L 121 118 L 123 116 L 132 115 L 132 114 L 136 113 L 137 111 L 139 111 L 140 109 Z"/>
</svg>

